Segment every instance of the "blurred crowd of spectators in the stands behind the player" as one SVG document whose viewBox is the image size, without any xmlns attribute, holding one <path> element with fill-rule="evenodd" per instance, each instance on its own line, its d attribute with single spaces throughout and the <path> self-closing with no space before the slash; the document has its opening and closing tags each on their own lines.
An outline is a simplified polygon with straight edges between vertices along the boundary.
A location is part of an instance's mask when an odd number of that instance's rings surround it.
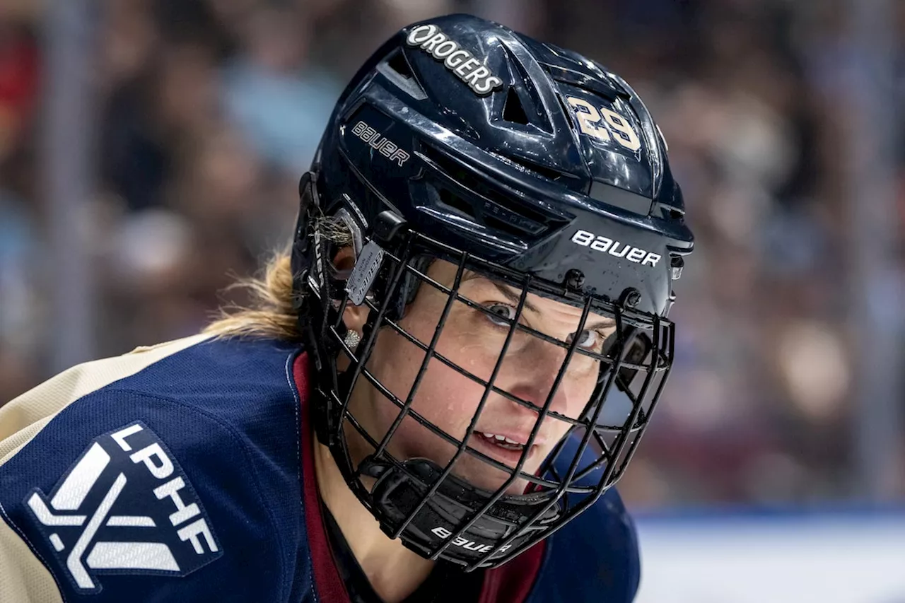
<svg viewBox="0 0 905 603">
<path fill-rule="evenodd" d="M 0 404 L 62 369 L 54 348 L 67 327 L 53 316 L 69 292 L 50 251 L 59 231 L 43 165 L 48 12 L 59 4 L 0 1 Z M 859 435 L 872 407 L 857 335 L 870 311 L 905 342 L 894 110 L 905 106 L 905 3 L 888 3 L 898 77 L 880 87 L 893 110 L 866 116 L 849 93 L 862 67 L 852 3 L 838 0 L 79 4 L 95 7 L 94 180 L 69 227 L 90 243 L 92 356 L 194 333 L 235 299 L 224 287 L 288 240 L 298 178 L 357 64 L 404 24 L 474 12 L 623 75 L 670 143 L 698 243 L 671 316 L 679 362 L 624 496 L 636 508 L 870 498 L 857 476 L 872 437 Z M 858 129 L 893 142 L 877 189 L 898 235 L 865 294 L 853 213 L 880 201 L 854 185 Z M 905 387 L 886 391 L 896 397 L 879 407 L 899 423 L 874 483 L 901 501 Z"/>
</svg>

